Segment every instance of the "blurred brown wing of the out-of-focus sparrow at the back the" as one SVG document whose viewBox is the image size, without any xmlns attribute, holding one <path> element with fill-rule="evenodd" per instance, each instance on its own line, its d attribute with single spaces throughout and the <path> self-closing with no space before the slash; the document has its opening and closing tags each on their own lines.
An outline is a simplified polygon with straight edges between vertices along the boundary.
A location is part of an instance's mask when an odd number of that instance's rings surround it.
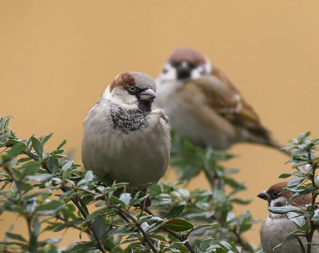
<svg viewBox="0 0 319 253">
<path fill-rule="evenodd" d="M 269 139 L 270 132 L 260 122 L 254 109 L 244 100 L 239 90 L 217 68 L 211 76 L 192 81 L 205 93 L 206 103 L 220 116 L 235 126 L 245 128 L 252 134 Z"/>
</svg>

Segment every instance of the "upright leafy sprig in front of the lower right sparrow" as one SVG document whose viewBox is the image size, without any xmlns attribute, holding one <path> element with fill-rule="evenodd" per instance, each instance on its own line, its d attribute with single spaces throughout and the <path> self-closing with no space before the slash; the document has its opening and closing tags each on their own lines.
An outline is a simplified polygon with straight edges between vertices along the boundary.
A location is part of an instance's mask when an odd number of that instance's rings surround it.
<svg viewBox="0 0 319 253">
<path fill-rule="evenodd" d="M 286 214 L 287 218 L 293 220 L 296 224 L 296 230 L 286 234 L 283 243 L 296 239 L 300 242 L 301 252 L 311 252 L 312 237 L 314 232 L 319 229 L 319 202 L 316 197 L 319 194 L 319 175 L 315 175 L 316 169 L 319 167 L 319 156 L 315 155 L 315 151 L 319 148 L 319 138 L 310 139 L 310 132 L 301 133 L 297 139 L 291 139 L 289 142 L 292 145 L 285 147 L 286 150 L 293 150 L 292 158 L 287 163 L 292 162 L 294 172 L 284 173 L 279 178 L 287 178 L 294 176 L 288 181 L 287 188 L 283 192 L 289 190 L 293 193 L 288 204 L 294 203 L 294 199 L 299 196 L 311 194 L 311 204 L 306 206 L 296 207 L 294 205 L 286 205 L 283 207 L 269 207 L 268 210 L 273 213 Z M 282 193 L 283 193 L 282 192 Z M 317 232 L 317 231 L 316 231 Z M 307 248 L 305 249 L 301 243 L 301 239 L 306 237 Z"/>
</svg>

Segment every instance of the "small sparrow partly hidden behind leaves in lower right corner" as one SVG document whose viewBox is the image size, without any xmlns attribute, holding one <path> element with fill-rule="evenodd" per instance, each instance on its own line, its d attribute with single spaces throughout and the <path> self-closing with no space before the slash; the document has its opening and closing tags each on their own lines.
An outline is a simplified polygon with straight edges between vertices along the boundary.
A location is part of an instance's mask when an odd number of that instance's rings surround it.
<svg viewBox="0 0 319 253">
<path fill-rule="evenodd" d="M 271 187 L 269 187 L 268 190 L 265 190 L 259 193 L 257 197 L 267 200 L 268 205 L 270 207 L 279 207 L 279 206 L 287 205 L 293 193 L 290 191 L 286 191 L 280 194 L 283 188 L 286 188 L 286 187 L 287 187 L 287 182 L 276 183 L 272 185 Z M 304 207 L 305 205 L 308 205 L 310 203 L 311 203 L 311 194 L 308 194 L 308 195 L 299 196 L 293 199 L 290 205 L 294 205 L 297 207 L 298 206 Z M 285 242 L 281 247 L 273 250 L 274 247 L 276 247 L 278 244 L 283 242 L 283 240 L 285 239 L 284 235 L 290 231 L 294 231 L 295 228 L 296 228 L 296 225 L 293 223 L 292 220 L 289 220 L 286 217 L 286 214 L 275 214 L 275 213 L 269 212 L 269 216 L 263 222 L 263 225 L 260 231 L 260 241 L 261 241 L 261 245 L 263 246 L 263 251 L 265 253 L 271 253 L 271 252 L 300 253 L 301 248 L 297 239 L 293 239 L 291 241 Z M 301 241 L 304 245 L 304 248 L 307 251 L 306 238 L 303 238 Z M 312 242 L 314 243 L 319 242 L 318 231 L 315 231 L 312 238 Z M 318 253 L 319 245 L 311 246 L 311 252 Z"/>
</svg>

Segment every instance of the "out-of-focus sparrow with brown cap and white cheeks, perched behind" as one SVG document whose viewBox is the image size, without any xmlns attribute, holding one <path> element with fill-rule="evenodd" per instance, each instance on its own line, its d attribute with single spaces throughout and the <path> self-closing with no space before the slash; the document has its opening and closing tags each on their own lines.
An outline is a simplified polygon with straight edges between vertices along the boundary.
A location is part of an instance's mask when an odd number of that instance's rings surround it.
<svg viewBox="0 0 319 253">
<path fill-rule="evenodd" d="M 230 79 L 196 50 L 173 50 L 155 81 L 156 104 L 165 109 L 178 134 L 218 150 L 248 142 L 291 156 L 272 138 Z"/>
</svg>

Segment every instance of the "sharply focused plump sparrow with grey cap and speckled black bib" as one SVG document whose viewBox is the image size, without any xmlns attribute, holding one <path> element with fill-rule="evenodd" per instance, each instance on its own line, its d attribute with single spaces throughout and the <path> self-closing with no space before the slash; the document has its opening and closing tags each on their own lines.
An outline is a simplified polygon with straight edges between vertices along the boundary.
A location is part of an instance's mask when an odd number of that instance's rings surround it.
<svg viewBox="0 0 319 253">
<path fill-rule="evenodd" d="M 129 189 L 163 177 L 170 159 L 170 126 L 154 103 L 155 92 L 155 81 L 142 72 L 119 73 L 107 86 L 84 120 L 86 170 L 127 182 Z"/>
</svg>

